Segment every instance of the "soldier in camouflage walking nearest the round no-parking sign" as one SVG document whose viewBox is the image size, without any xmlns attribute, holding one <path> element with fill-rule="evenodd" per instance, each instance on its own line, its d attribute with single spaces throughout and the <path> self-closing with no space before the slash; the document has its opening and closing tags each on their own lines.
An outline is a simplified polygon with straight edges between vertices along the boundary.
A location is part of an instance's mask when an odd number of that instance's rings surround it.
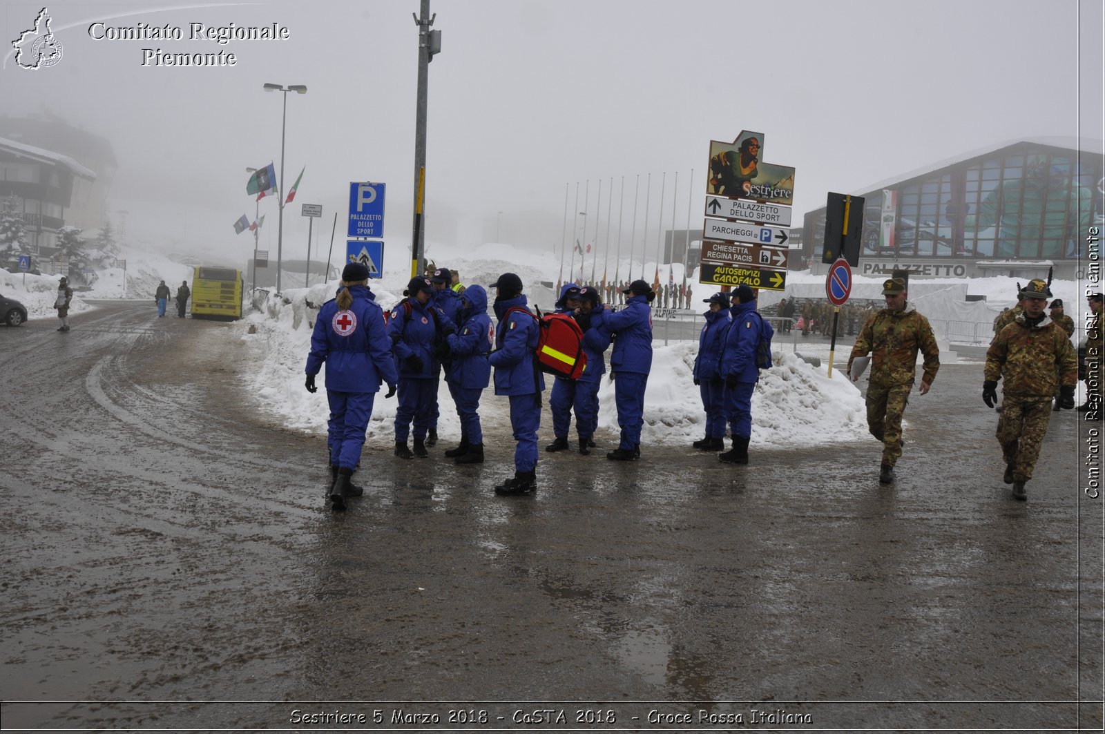
<svg viewBox="0 0 1105 734">
<path fill-rule="evenodd" d="M 920 395 L 928 392 L 940 368 L 940 350 L 928 319 L 913 308 L 906 308 L 906 284 L 901 277 L 883 283 L 886 307 L 871 315 L 860 329 L 852 361 L 871 353 L 871 377 L 867 384 L 867 428 L 883 442 L 878 481 L 894 481 L 894 464 L 902 455 L 902 413 L 917 374 L 917 353 L 925 356 L 920 378 Z M 856 376 L 854 379 L 859 379 Z"/>
</svg>

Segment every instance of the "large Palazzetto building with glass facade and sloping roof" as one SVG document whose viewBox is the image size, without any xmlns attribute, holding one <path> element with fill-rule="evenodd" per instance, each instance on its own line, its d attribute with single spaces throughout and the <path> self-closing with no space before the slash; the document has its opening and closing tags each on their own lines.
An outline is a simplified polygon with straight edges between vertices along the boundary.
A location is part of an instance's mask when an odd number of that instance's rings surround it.
<svg viewBox="0 0 1105 734">
<path fill-rule="evenodd" d="M 1063 145 L 1066 143 L 1067 145 Z M 1075 277 L 1103 226 L 1102 148 L 1032 138 L 934 164 L 864 197 L 860 273 Z M 825 210 L 806 214 L 803 254 L 821 263 Z"/>
</svg>

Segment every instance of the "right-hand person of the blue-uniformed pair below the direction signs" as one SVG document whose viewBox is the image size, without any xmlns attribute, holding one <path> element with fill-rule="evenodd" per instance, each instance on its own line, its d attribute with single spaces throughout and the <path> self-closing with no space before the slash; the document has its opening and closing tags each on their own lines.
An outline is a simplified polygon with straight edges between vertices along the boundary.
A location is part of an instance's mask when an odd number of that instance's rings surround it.
<svg viewBox="0 0 1105 734">
<path fill-rule="evenodd" d="M 756 347 L 759 345 L 761 324 L 756 312 L 756 295 L 750 286 L 737 287 L 729 316 L 733 323 L 725 333 L 718 371 L 725 379 L 725 419 L 733 433 L 733 448 L 718 454 L 718 459 L 732 464 L 747 464 L 748 442 L 753 434 L 753 390 L 759 381 Z"/>
</svg>

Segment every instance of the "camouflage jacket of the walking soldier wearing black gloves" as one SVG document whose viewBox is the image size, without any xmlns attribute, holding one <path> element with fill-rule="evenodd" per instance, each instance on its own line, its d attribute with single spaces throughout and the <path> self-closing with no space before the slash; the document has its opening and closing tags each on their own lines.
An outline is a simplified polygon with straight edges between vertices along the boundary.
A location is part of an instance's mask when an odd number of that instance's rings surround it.
<svg viewBox="0 0 1105 734">
<path fill-rule="evenodd" d="M 993 337 L 985 375 L 992 381 L 1004 378 L 1004 395 L 1050 398 L 1059 385 L 1074 387 L 1078 357 L 1062 327 L 1048 316 L 1033 326 L 1021 315 Z"/>
</svg>

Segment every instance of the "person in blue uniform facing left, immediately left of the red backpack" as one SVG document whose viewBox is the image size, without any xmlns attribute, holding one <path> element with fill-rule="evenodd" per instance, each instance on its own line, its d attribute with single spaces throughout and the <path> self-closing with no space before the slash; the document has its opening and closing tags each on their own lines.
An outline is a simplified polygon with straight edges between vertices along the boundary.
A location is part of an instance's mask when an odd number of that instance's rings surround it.
<svg viewBox="0 0 1105 734">
<path fill-rule="evenodd" d="M 495 494 L 530 494 L 537 489 L 537 431 L 541 427 L 541 391 L 545 378 L 538 369 L 539 326 L 526 305 L 522 279 L 503 273 L 491 287 L 495 295 L 495 352 L 490 361 L 495 368 L 495 395 L 511 400 L 511 428 L 517 445 L 514 450 L 514 478 L 495 487 Z"/>
</svg>

